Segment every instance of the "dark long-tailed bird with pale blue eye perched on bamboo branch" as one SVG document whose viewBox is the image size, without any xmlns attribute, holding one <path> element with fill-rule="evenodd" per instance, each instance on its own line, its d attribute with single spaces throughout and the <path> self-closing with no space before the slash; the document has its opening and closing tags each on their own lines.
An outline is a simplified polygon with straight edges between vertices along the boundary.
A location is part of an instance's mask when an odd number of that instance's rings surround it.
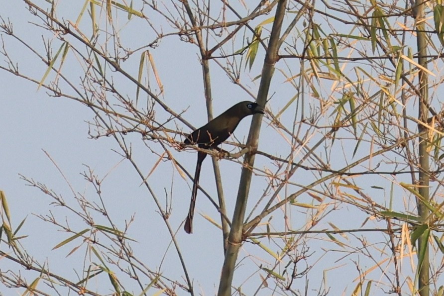
<svg viewBox="0 0 444 296">
<path fill-rule="evenodd" d="M 240 120 L 248 115 L 264 114 L 265 109 L 252 101 L 241 101 L 228 108 L 218 117 L 209 121 L 204 126 L 196 129 L 187 136 L 185 144 L 197 144 L 199 148 L 217 149 L 217 146 L 225 141 L 236 129 Z M 194 173 L 193 190 L 191 192 L 190 209 L 185 221 L 184 229 L 187 233 L 193 232 L 193 215 L 196 205 L 197 188 L 199 186 L 199 176 L 201 173 L 202 162 L 207 153 L 198 151 L 196 171 Z"/>
</svg>

